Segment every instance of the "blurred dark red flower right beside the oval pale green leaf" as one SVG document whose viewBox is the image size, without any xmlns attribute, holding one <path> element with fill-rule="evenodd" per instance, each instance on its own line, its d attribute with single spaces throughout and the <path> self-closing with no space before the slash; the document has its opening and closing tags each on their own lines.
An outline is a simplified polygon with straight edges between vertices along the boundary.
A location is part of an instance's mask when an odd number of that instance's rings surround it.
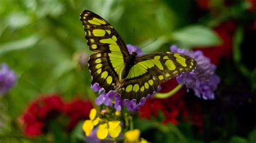
<svg viewBox="0 0 256 143">
<path fill-rule="evenodd" d="M 225 22 L 214 28 L 214 31 L 222 39 L 220 46 L 213 46 L 208 48 L 197 48 L 195 50 L 203 51 L 204 55 L 211 59 L 211 63 L 218 65 L 220 59 L 225 57 L 230 59 L 233 52 L 233 35 L 235 31 L 234 22 Z"/>
</svg>

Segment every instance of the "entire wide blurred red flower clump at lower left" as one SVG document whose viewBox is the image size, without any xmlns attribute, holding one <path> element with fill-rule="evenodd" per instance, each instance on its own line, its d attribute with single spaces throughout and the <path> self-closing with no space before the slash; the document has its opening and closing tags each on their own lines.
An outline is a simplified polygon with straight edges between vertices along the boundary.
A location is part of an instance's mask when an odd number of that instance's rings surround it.
<svg viewBox="0 0 256 143">
<path fill-rule="evenodd" d="M 60 96 L 52 94 L 33 101 L 21 115 L 19 122 L 24 127 L 25 134 L 34 138 L 44 134 L 46 132 L 45 125 L 48 125 L 49 121 L 56 119 L 59 115 L 69 117 L 67 128 L 69 131 L 72 130 L 78 121 L 89 119 L 91 108 L 90 101 L 76 99 L 65 104 Z"/>
</svg>

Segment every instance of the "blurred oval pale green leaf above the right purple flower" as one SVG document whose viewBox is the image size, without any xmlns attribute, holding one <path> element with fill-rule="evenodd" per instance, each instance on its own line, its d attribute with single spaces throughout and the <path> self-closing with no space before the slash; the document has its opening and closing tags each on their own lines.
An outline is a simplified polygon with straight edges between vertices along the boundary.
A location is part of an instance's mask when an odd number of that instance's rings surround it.
<svg viewBox="0 0 256 143">
<path fill-rule="evenodd" d="M 183 29 L 172 33 L 173 40 L 178 42 L 178 45 L 185 48 L 191 47 L 207 47 L 221 44 L 220 38 L 216 33 L 203 25 L 186 26 Z"/>
</svg>

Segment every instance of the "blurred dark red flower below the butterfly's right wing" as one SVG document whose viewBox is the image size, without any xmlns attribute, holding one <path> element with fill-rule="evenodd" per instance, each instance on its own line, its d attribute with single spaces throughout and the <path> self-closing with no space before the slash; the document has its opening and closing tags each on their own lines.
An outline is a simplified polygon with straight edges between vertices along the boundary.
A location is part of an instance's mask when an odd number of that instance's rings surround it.
<svg viewBox="0 0 256 143">
<path fill-rule="evenodd" d="M 176 79 L 171 79 L 161 84 L 160 92 L 169 92 L 176 87 Z M 200 104 L 196 103 L 191 106 L 187 106 L 185 103 L 185 88 L 181 88 L 176 94 L 167 99 L 147 99 L 144 106 L 140 107 L 139 117 L 151 120 L 151 117 L 158 117 L 159 111 L 162 111 L 165 115 L 163 121 L 164 124 L 172 122 L 174 125 L 178 125 L 179 121 L 188 121 L 192 125 L 198 128 L 203 128 L 204 114 L 200 108 Z"/>
</svg>

